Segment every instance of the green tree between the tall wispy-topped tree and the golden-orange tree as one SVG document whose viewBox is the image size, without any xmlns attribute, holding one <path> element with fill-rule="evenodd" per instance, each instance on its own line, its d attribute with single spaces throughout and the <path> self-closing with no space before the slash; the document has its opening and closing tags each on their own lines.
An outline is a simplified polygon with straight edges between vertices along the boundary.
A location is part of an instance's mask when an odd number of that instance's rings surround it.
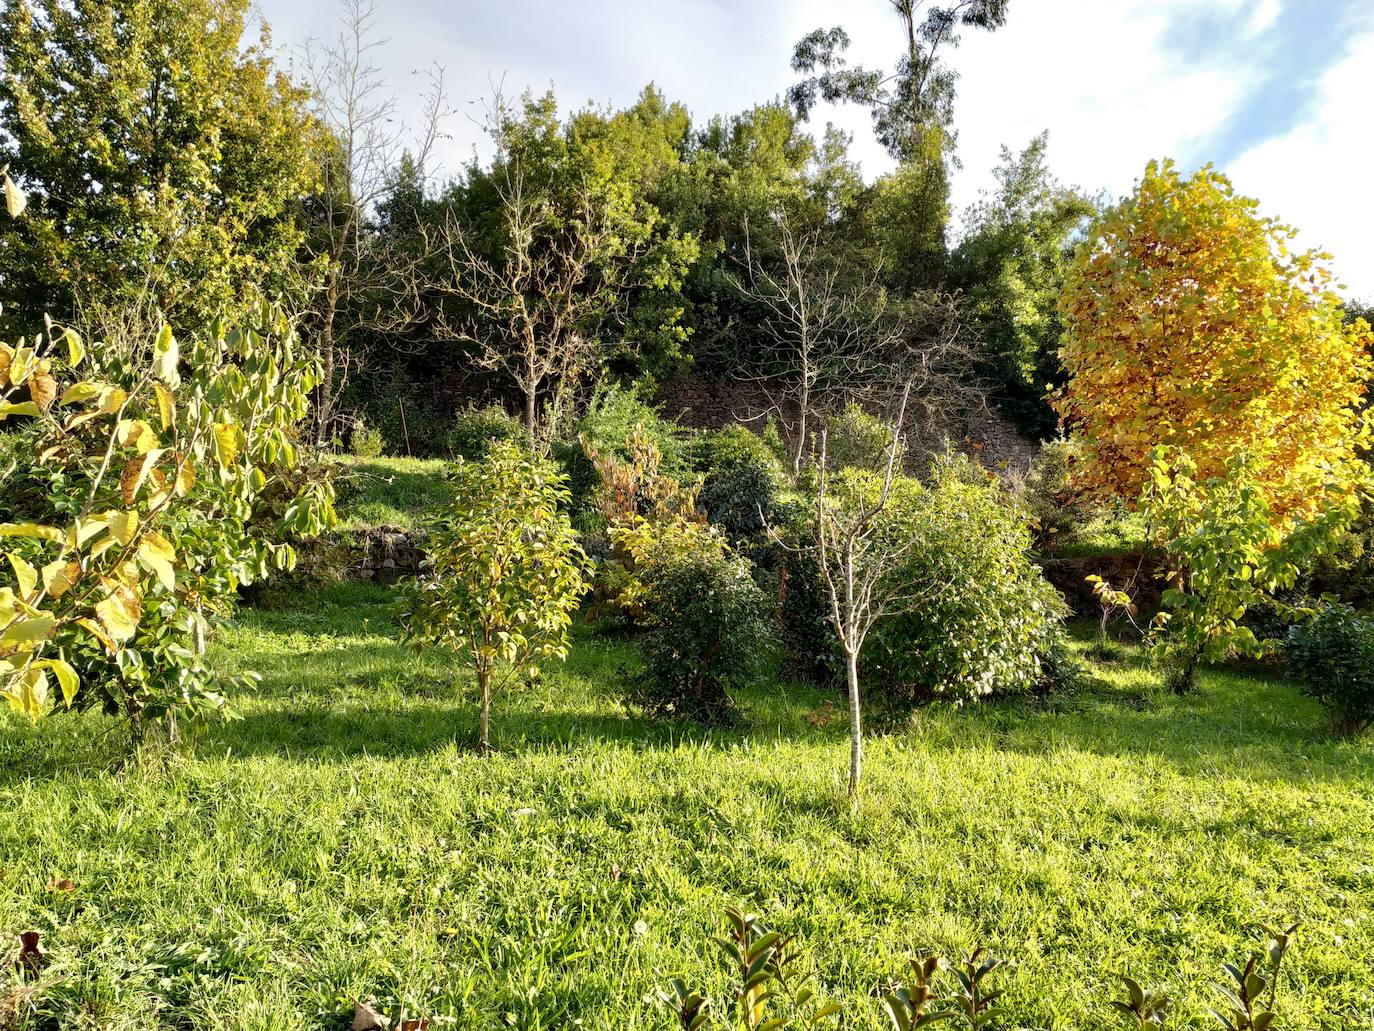
<svg viewBox="0 0 1374 1031">
<path fill-rule="evenodd" d="M 998 190 L 965 213 L 949 256 L 949 286 L 963 290 L 1003 410 L 1041 439 L 1055 425 L 1046 390 L 1062 385 L 1059 290 L 1072 241 L 1095 212 L 1050 173 L 1047 144 L 1040 133 L 1020 154 L 1002 148 Z"/>
</svg>

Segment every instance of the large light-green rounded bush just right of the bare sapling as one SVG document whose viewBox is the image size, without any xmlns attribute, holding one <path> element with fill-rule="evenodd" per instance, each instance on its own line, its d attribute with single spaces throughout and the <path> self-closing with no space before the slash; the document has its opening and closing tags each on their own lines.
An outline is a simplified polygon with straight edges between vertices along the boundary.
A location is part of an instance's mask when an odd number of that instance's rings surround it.
<svg viewBox="0 0 1374 1031">
<path fill-rule="evenodd" d="M 1061 667 L 1066 608 L 1030 561 L 1025 513 L 996 478 L 963 456 L 941 458 L 929 484 L 897 483 L 888 518 L 911 542 L 890 576 L 918 603 L 874 628 L 870 682 L 893 701 L 1043 686 Z"/>
</svg>

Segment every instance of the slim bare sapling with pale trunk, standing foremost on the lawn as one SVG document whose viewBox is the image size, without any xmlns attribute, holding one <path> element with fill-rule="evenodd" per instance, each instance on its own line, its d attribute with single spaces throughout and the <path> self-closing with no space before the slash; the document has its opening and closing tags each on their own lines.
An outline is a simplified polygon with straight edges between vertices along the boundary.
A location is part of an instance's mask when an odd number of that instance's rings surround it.
<svg viewBox="0 0 1374 1031">
<path fill-rule="evenodd" d="M 914 415 L 929 418 L 948 408 L 981 403 L 981 390 L 969 375 L 973 356 L 963 330 L 963 309 L 958 297 L 930 294 L 907 305 L 903 342 L 889 353 L 892 375 L 867 388 L 868 407 L 875 390 L 885 390 L 894 403 L 888 406 L 892 433 L 882 466 L 882 481 L 871 492 L 837 492 L 829 467 L 827 432 L 820 430 L 816 456 L 816 496 L 812 507 L 815 559 L 835 630 L 845 656 L 845 683 L 849 698 L 849 799 L 859 804 L 863 771 L 863 700 L 859 661 L 868 632 L 889 616 L 911 612 L 930 598 L 941 584 L 911 584 L 894 570 L 919 544 L 910 533 L 892 525 L 890 503 L 900 474 L 900 456 Z"/>
</svg>

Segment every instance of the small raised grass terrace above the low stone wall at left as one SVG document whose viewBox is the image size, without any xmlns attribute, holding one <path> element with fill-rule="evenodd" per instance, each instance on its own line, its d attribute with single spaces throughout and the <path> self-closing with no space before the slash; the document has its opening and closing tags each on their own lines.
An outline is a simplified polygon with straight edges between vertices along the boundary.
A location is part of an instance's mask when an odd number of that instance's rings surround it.
<svg viewBox="0 0 1374 1031">
<path fill-rule="evenodd" d="M 338 491 L 339 529 L 374 526 L 412 529 L 429 510 L 448 498 L 438 458 L 352 458 L 337 459 L 334 483 Z"/>
</svg>

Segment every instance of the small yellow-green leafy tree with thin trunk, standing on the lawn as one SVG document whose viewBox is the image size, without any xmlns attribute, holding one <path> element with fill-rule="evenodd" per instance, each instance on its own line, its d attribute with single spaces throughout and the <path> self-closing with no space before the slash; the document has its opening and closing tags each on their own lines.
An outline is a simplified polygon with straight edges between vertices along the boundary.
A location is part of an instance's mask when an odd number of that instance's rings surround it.
<svg viewBox="0 0 1374 1031">
<path fill-rule="evenodd" d="M 567 656 L 583 597 L 583 554 L 565 511 L 566 481 L 511 441 L 458 461 L 453 503 L 429 537 L 433 570 L 408 591 L 403 630 L 416 650 L 462 656 L 481 697 L 478 742 L 491 746 L 492 694 Z"/>
</svg>

